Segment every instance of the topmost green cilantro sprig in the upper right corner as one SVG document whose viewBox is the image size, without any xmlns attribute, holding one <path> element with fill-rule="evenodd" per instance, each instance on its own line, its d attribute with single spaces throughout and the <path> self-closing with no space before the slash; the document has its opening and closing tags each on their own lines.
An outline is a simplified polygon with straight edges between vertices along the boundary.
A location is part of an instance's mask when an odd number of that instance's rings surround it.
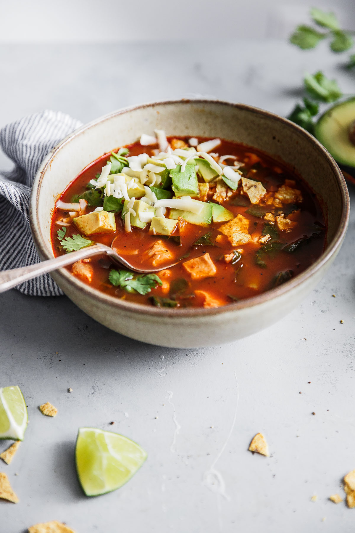
<svg viewBox="0 0 355 533">
<path fill-rule="evenodd" d="M 310 15 L 317 26 L 328 31 L 318 31 L 307 25 L 298 26 L 290 37 L 292 44 L 299 46 L 302 50 L 310 50 L 323 39 L 330 38 L 329 46 L 333 52 L 345 52 L 353 46 L 354 32 L 341 29 L 339 20 L 333 12 L 326 13 L 317 7 L 312 7 Z"/>
</svg>

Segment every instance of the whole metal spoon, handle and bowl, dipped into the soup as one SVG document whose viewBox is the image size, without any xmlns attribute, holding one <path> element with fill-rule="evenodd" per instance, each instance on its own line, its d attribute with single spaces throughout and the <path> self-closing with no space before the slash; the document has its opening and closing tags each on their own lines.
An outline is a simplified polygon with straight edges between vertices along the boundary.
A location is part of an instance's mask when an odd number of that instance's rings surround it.
<svg viewBox="0 0 355 533">
<path fill-rule="evenodd" d="M 15 268 L 12 270 L 3 270 L 0 272 L 0 293 L 4 293 L 6 290 L 12 289 L 13 287 L 16 287 L 16 285 L 20 285 L 20 283 L 23 283 L 28 279 L 36 278 L 41 274 L 46 274 L 52 270 L 63 268 L 63 266 L 68 266 L 76 261 L 79 261 L 80 259 L 86 259 L 86 257 L 103 253 L 108 254 L 112 262 L 118 266 L 125 266 L 129 270 L 133 270 L 134 272 L 139 272 L 141 274 L 158 272 L 159 270 L 170 268 L 170 266 L 174 266 L 179 262 L 175 261 L 175 263 L 160 266 L 160 268 L 155 269 L 138 269 L 136 266 L 130 265 L 128 261 L 123 259 L 123 257 L 115 252 L 113 248 L 110 248 L 110 246 L 97 243 L 93 246 L 82 248 L 77 252 L 70 252 L 69 254 L 60 255 L 59 257 L 54 257 L 54 259 L 48 259 L 47 261 L 42 261 L 41 263 L 22 266 L 21 268 Z"/>
</svg>

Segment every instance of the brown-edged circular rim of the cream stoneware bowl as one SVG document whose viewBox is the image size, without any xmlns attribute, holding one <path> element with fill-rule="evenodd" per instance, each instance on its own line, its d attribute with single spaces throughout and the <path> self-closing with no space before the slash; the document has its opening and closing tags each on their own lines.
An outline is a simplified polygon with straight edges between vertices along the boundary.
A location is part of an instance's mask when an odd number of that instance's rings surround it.
<svg viewBox="0 0 355 533">
<path fill-rule="evenodd" d="M 88 130 L 89 128 L 94 127 L 97 124 L 103 123 L 106 120 L 110 120 L 111 118 L 125 114 L 129 111 L 134 111 L 137 109 L 144 109 L 148 107 L 154 107 L 154 106 L 164 106 L 164 105 L 171 105 L 171 104 L 189 104 L 189 103 L 200 103 L 200 104 L 213 104 L 213 105 L 220 105 L 220 106 L 228 106 L 228 107 L 234 107 L 242 110 L 246 110 L 249 112 L 254 113 L 255 115 L 262 115 L 263 117 L 268 117 L 273 120 L 278 120 L 279 122 L 282 122 L 288 127 L 292 127 L 295 130 L 299 132 L 302 136 L 306 137 L 308 141 L 310 141 L 313 146 L 321 152 L 321 154 L 325 157 L 327 160 L 329 166 L 332 167 L 336 177 L 337 182 L 341 191 L 342 195 L 342 214 L 341 214 L 341 220 L 339 224 L 339 228 L 337 229 L 335 236 L 333 237 L 332 241 L 328 243 L 328 247 L 325 252 L 317 259 L 315 263 L 310 265 L 306 270 L 295 276 L 289 281 L 286 281 L 284 284 L 280 285 L 279 287 L 275 287 L 273 289 L 266 290 L 265 292 L 257 295 L 252 296 L 250 298 L 245 298 L 244 300 L 241 300 L 239 302 L 231 302 L 230 304 L 223 305 L 218 308 L 211 308 L 211 309 L 205 309 L 205 308 L 184 308 L 184 309 L 171 309 L 171 308 L 158 308 L 154 306 L 148 306 L 146 304 L 138 304 L 135 302 L 127 302 L 125 300 L 121 300 L 121 298 L 115 298 L 114 296 L 107 295 L 103 292 L 101 292 L 98 289 L 94 289 L 90 287 L 89 285 L 85 284 L 84 281 L 81 281 L 80 279 L 76 278 L 75 276 L 72 276 L 72 274 L 65 268 L 59 269 L 56 271 L 56 273 L 59 275 L 59 277 L 64 278 L 64 280 L 69 283 L 76 291 L 79 291 L 81 293 L 87 293 L 91 297 L 94 298 L 94 300 L 98 300 L 102 304 L 110 305 L 115 309 L 119 309 L 122 311 L 127 312 L 133 312 L 133 313 L 140 313 L 145 315 L 153 315 L 153 316 L 160 316 L 160 317 L 169 317 L 169 318 L 183 318 L 183 317 L 205 317 L 209 315 L 217 315 L 220 313 L 230 313 L 235 312 L 241 309 L 245 308 L 252 308 L 254 306 L 257 306 L 262 303 L 266 303 L 269 300 L 273 300 L 273 298 L 277 298 L 279 296 L 284 295 L 285 293 L 291 291 L 292 289 L 295 289 L 299 285 L 301 285 L 304 281 L 311 278 L 323 265 L 325 265 L 329 259 L 331 259 L 332 255 L 337 252 L 337 249 L 340 247 L 342 240 L 345 237 L 346 229 L 348 228 L 348 222 L 349 222 L 349 212 L 350 212 L 350 199 L 349 199 L 349 192 L 348 188 L 346 187 L 344 176 L 337 165 L 334 158 L 329 154 L 329 152 L 324 148 L 323 144 L 321 144 L 313 135 L 311 135 L 309 132 L 304 130 L 301 126 L 298 126 L 297 124 L 291 122 L 291 120 L 288 120 L 287 118 L 280 117 L 279 115 L 276 115 L 275 113 L 271 111 L 267 111 L 265 109 L 260 109 L 258 107 L 249 106 L 248 104 L 243 103 L 234 103 L 234 102 L 228 102 L 223 100 L 212 100 L 212 99 L 179 99 L 179 100 L 158 100 L 154 102 L 147 102 L 142 104 L 137 104 L 134 106 L 128 106 L 121 109 L 118 109 L 116 111 L 112 111 L 107 115 L 103 115 L 102 117 L 98 117 L 87 124 L 84 124 L 77 128 L 77 130 L 74 130 L 69 135 L 67 135 L 62 141 L 60 141 L 56 146 L 49 152 L 49 154 L 45 157 L 42 164 L 39 166 L 34 182 L 32 184 L 31 189 L 31 195 L 30 195 L 30 209 L 29 209 L 29 221 L 30 221 L 30 228 L 32 232 L 32 236 L 34 237 L 35 245 L 37 247 L 37 250 L 40 255 L 45 257 L 45 259 L 53 259 L 53 255 L 50 255 L 46 249 L 45 246 L 45 240 L 42 236 L 42 232 L 40 230 L 40 225 L 38 221 L 38 215 L 37 215 L 37 207 L 39 203 L 40 198 L 40 187 L 42 184 L 43 177 L 47 171 L 47 169 L 50 167 L 52 160 L 54 159 L 56 153 L 61 150 L 65 144 L 68 144 L 71 139 L 76 138 L 78 135 L 81 135 L 83 132 Z M 89 162 L 90 163 L 90 162 Z M 88 163 L 88 164 L 89 164 Z"/>
</svg>

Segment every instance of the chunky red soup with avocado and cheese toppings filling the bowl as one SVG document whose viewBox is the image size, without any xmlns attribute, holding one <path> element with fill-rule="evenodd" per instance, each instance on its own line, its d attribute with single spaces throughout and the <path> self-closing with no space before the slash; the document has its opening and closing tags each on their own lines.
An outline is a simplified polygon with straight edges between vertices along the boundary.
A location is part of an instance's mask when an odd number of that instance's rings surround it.
<svg viewBox="0 0 355 533">
<path fill-rule="evenodd" d="M 54 255 L 103 243 L 108 257 L 70 270 L 130 302 L 213 308 L 290 280 L 321 255 L 325 224 L 300 177 L 272 158 L 220 139 L 143 134 L 88 165 L 55 204 Z M 179 261 L 171 268 L 165 266 Z"/>
</svg>

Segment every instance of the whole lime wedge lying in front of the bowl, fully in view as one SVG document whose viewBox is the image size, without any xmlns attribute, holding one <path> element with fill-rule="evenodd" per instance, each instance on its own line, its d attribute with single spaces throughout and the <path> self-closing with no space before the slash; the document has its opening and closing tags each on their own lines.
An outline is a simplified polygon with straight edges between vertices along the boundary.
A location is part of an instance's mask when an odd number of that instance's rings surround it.
<svg viewBox="0 0 355 533">
<path fill-rule="evenodd" d="M 123 435 L 80 427 L 75 458 L 82 490 L 86 496 L 99 496 L 127 483 L 147 454 Z"/>
</svg>

